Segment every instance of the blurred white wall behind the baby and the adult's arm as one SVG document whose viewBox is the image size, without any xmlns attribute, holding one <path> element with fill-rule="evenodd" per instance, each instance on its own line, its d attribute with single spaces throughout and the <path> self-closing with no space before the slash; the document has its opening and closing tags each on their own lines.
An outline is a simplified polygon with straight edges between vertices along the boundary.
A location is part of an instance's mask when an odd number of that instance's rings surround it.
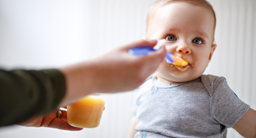
<svg viewBox="0 0 256 138">
<path fill-rule="evenodd" d="M 0 0 L 0 68 L 56 68 L 139 40 L 155 1 Z M 217 15 L 218 47 L 205 74 L 226 77 L 238 97 L 256 109 L 256 1 L 209 2 Z M 132 99 L 133 91 L 107 95 L 98 128 L 70 132 L 13 125 L 0 127 L 0 137 L 125 138 Z M 227 137 L 242 136 L 231 128 Z"/>
</svg>

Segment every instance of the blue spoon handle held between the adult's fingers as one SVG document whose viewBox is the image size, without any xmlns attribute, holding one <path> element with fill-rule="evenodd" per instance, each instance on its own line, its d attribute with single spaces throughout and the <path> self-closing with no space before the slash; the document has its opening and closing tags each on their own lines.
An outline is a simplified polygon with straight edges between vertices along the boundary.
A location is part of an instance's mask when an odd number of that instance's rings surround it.
<svg viewBox="0 0 256 138">
<path fill-rule="evenodd" d="M 153 49 L 151 46 L 146 45 L 146 46 L 139 46 L 139 47 L 131 48 L 129 50 L 129 53 L 133 56 L 146 56 L 146 55 L 150 55 L 154 51 L 157 51 L 157 50 Z M 165 60 L 168 63 L 174 63 L 173 54 L 167 52 L 165 55 Z"/>
</svg>

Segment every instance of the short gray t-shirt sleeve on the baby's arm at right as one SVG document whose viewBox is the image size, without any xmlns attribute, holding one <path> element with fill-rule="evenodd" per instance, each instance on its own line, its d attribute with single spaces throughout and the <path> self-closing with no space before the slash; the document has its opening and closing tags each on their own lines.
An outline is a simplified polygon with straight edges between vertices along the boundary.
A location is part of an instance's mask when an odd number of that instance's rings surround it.
<svg viewBox="0 0 256 138">
<path fill-rule="evenodd" d="M 212 95 L 210 114 L 220 124 L 231 128 L 249 107 L 230 89 L 226 79 L 222 79 Z"/>
</svg>

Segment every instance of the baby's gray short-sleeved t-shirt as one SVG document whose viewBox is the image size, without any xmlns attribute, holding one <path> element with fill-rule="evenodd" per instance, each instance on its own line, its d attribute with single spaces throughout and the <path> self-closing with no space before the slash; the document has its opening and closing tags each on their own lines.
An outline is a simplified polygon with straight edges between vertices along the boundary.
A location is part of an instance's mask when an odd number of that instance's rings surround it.
<svg viewBox="0 0 256 138">
<path fill-rule="evenodd" d="M 135 138 L 226 137 L 249 109 L 224 77 L 212 75 L 175 84 L 153 75 L 134 95 Z"/>
</svg>

